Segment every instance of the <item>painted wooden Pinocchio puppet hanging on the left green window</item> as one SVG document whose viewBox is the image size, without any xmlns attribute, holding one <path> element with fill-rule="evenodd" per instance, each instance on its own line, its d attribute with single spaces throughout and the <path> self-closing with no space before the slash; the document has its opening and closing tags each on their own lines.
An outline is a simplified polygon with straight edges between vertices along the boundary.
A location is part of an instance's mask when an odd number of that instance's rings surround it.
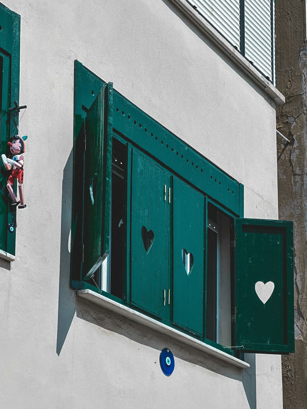
<svg viewBox="0 0 307 409">
<path fill-rule="evenodd" d="M 6 157 L 6 155 L 1 155 L 2 162 L 5 166 L 7 171 L 11 171 L 11 175 L 7 180 L 7 190 L 13 200 L 11 206 L 18 206 L 19 209 L 24 209 L 26 206 L 25 198 L 23 195 L 23 163 L 24 157 L 23 154 L 25 153 L 25 140 L 27 136 L 20 137 L 18 135 L 14 135 L 11 138 L 11 141 L 8 142 L 9 150 L 11 152 L 12 158 Z M 15 180 L 18 182 L 18 191 L 19 191 L 19 198 L 14 193 L 13 185 Z"/>
</svg>

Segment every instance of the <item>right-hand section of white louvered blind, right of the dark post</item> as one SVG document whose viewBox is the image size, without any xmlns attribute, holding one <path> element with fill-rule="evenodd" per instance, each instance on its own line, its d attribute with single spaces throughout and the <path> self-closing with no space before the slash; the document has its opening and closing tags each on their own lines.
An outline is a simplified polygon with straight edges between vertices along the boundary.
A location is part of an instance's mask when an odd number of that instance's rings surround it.
<svg viewBox="0 0 307 409">
<path fill-rule="evenodd" d="M 272 81 L 271 2 L 245 0 L 244 3 L 245 57 Z"/>
</svg>

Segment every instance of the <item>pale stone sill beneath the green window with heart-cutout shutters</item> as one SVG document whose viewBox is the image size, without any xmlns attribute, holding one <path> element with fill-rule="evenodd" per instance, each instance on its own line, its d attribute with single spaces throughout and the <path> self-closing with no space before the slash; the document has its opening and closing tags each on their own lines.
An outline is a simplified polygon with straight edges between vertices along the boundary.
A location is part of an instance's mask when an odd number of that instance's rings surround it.
<svg viewBox="0 0 307 409">
<path fill-rule="evenodd" d="M 97 292 L 94 292 L 92 290 L 78 290 L 76 291 L 76 293 L 78 297 L 85 298 L 88 301 L 91 301 L 108 310 L 116 312 L 117 314 L 120 314 L 129 320 L 136 321 L 139 324 L 146 325 L 150 328 L 153 328 L 154 330 L 158 330 L 159 332 L 162 332 L 168 335 L 169 337 L 176 339 L 177 341 L 183 342 L 188 346 L 197 348 L 200 351 L 213 355 L 214 357 L 220 360 L 226 361 L 235 366 L 239 366 L 239 368 L 243 369 L 250 367 L 249 364 L 242 360 L 239 360 L 223 351 L 219 351 L 219 349 L 214 348 L 213 346 L 205 344 L 204 342 L 201 342 L 198 339 L 190 337 L 190 335 L 186 335 L 172 327 L 162 324 L 161 322 L 156 321 L 151 317 L 147 317 L 147 315 L 144 315 L 141 312 L 135 311 L 129 307 L 117 303 L 116 301 L 113 301 L 105 297 L 104 295 L 98 294 Z"/>
</svg>

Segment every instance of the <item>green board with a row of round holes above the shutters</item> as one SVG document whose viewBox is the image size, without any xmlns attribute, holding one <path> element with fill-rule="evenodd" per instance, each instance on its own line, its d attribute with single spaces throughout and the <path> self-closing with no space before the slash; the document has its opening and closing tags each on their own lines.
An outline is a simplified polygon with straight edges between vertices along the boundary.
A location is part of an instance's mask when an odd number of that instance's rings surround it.
<svg viewBox="0 0 307 409">
<path fill-rule="evenodd" d="M 155 157 L 163 166 L 172 169 L 174 173 L 239 216 L 239 183 L 116 91 L 113 127 Z"/>
</svg>

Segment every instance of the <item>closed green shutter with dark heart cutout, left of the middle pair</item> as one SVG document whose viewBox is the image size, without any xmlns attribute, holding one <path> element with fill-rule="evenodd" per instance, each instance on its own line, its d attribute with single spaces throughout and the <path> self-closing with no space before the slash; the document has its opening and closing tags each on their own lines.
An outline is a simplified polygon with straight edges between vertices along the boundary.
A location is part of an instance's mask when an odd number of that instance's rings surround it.
<svg viewBox="0 0 307 409">
<path fill-rule="evenodd" d="M 131 303 L 160 318 L 169 305 L 169 186 L 168 173 L 133 150 Z"/>
</svg>

